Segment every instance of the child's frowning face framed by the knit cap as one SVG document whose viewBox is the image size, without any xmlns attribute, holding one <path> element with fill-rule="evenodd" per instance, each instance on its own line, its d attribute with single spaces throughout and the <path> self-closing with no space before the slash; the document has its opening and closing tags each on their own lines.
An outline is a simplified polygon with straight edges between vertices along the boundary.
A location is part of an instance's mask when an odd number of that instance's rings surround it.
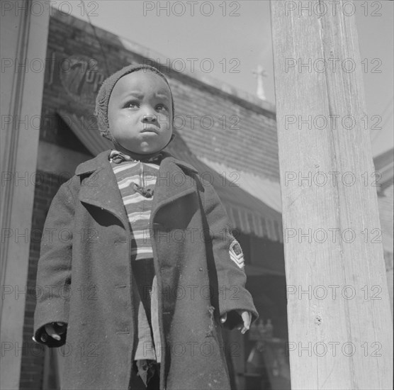
<svg viewBox="0 0 394 390">
<path fill-rule="evenodd" d="M 159 75 L 138 70 L 121 77 L 108 103 L 116 146 L 138 154 L 162 150 L 172 134 L 171 104 L 169 87 Z"/>
</svg>

